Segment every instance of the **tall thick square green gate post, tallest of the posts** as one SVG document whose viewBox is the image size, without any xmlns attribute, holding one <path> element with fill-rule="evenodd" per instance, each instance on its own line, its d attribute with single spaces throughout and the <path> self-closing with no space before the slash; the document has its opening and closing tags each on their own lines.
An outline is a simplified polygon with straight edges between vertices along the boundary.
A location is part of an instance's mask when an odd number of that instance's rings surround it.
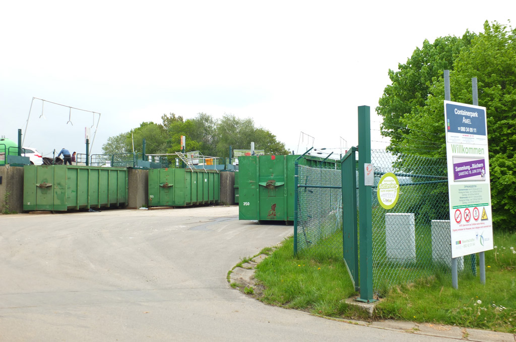
<svg viewBox="0 0 516 342">
<path fill-rule="evenodd" d="M 365 185 L 364 164 L 371 162 L 371 123 L 369 106 L 358 107 L 358 186 L 360 213 L 360 298 L 373 299 L 373 219 L 371 186 Z"/>
</svg>

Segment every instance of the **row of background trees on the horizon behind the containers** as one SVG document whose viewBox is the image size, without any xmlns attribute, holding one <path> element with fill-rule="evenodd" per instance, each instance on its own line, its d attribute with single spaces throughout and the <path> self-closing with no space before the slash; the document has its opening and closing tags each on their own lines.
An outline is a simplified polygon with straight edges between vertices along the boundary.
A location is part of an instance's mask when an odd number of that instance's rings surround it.
<svg viewBox="0 0 516 342">
<path fill-rule="evenodd" d="M 262 127 L 255 127 L 251 118 L 240 119 L 224 115 L 214 119 L 211 115 L 199 113 L 191 119 L 184 119 L 174 113 L 162 115 L 162 122 L 142 122 L 140 127 L 111 136 L 102 146 L 105 154 L 142 151 L 146 140 L 146 153 L 175 153 L 181 151 L 181 135 L 186 136 L 186 151 L 201 151 L 204 156 L 229 156 L 229 147 L 265 150 L 267 154 L 288 154 L 285 144 L 276 135 Z"/>
</svg>

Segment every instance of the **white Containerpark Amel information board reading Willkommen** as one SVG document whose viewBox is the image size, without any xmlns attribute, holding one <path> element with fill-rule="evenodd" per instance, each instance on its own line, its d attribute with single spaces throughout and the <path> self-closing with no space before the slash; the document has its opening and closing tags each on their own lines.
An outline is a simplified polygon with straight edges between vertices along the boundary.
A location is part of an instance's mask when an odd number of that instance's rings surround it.
<svg viewBox="0 0 516 342">
<path fill-rule="evenodd" d="M 486 107 L 444 101 L 451 257 L 493 249 Z"/>
</svg>

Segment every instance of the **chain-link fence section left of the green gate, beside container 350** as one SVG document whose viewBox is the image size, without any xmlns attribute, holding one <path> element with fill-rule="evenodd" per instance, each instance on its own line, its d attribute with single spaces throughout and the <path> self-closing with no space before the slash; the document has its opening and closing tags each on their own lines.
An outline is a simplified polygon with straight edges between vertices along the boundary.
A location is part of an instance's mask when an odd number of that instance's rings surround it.
<svg viewBox="0 0 516 342">
<path fill-rule="evenodd" d="M 342 259 L 341 177 L 340 169 L 299 165 L 295 239 L 298 253 Z"/>
</svg>

